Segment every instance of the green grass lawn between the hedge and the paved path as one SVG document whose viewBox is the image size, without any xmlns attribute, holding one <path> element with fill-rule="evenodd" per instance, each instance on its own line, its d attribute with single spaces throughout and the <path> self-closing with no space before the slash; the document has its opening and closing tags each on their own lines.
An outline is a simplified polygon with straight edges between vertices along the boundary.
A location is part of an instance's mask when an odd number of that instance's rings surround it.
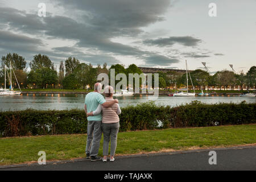
<svg viewBox="0 0 256 182">
<path fill-rule="evenodd" d="M 103 138 L 103 137 L 102 137 Z M 256 143 L 256 125 L 131 131 L 118 134 L 117 155 Z M 85 158 L 86 134 L 0 138 L 0 165 Z M 102 155 L 102 139 L 99 155 Z"/>
</svg>

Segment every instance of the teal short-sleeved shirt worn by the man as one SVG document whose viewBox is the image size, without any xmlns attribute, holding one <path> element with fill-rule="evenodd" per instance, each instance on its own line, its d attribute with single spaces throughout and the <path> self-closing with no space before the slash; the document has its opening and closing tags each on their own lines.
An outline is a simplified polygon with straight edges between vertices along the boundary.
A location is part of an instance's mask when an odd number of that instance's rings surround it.
<svg viewBox="0 0 256 182">
<path fill-rule="evenodd" d="M 84 104 L 86 105 L 87 112 L 90 113 L 97 109 L 99 104 L 106 102 L 105 98 L 98 92 L 90 92 L 86 95 Z M 94 115 L 87 117 L 88 121 L 101 121 L 102 115 Z"/>
</svg>

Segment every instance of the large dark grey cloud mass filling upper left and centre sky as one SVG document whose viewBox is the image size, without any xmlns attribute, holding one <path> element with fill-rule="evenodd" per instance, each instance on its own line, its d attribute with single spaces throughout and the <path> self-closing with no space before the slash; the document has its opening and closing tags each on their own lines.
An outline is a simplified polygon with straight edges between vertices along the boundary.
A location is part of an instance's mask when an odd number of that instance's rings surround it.
<svg viewBox="0 0 256 182">
<path fill-rule="evenodd" d="M 67 39 L 75 40 L 74 47 L 56 47 L 52 51 L 42 51 L 39 46 L 27 47 L 24 51 L 28 54 L 45 53 L 55 60 L 76 56 L 93 63 L 119 63 L 114 55 L 134 56 L 145 60 L 147 64 L 170 65 L 179 62 L 176 58 L 168 58 L 154 52 L 142 51 L 139 48 L 114 43 L 112 38 L 118 36 L 137 36 L 151 23 L 164 20 L 162 15 L 170 5 L 170 0 L 142 0 L 142 1 L 61 1 L 59 5 L 64 9 L 80 9 L 82 21 L 67 16 L 47 15 L 40 18 L 26 11 L 19 11 L 10 7 L 0 7 L 0 22 L 8 24 L 9 30 L 15 30 L 42 39 Z M 77 15 L 78 16 L 78 15 Z M 16 38 L 15 38 L 16 39 Z M 10 46 L 13 46 L 10 44 Z M 18 47 L 14 47 L 14 51 Z M 20 47 L 23 49 L 24 46 Z M 79 48 L 79 49 L 76 49 Z M 83 51 L 94 49 L 99 54 L 93 55 Z M 22 50 L 20 50 L 22 51 Z"/>
</svg>

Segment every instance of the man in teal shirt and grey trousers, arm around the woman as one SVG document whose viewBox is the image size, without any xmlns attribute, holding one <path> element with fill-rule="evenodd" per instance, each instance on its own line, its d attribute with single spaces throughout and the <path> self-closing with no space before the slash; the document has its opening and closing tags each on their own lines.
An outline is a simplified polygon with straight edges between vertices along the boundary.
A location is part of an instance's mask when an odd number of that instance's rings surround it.
<svg viewBox="0 0 256 182">
<path fill-rule="evenodd" d="M 90 113 L 97 109 L 98 105 L 101 104 L 103 107 L 110 107 L 115 103 L 118 103 L 118 100 L 106 102 L 105 98 L 100 94 L 102 85 L 97 82 L 94 85 L 94 92 L 90 92 L 85 97 L 85 113 Z M 89 116 L 87 118 L 87 142 L 86 142 L 86 158 L 90 157 L 91 161 L 101 160 L 98 155 L 98 150 L 100 148 L 101 141 L 101 120 L 102 115 Z"/>
</svg>

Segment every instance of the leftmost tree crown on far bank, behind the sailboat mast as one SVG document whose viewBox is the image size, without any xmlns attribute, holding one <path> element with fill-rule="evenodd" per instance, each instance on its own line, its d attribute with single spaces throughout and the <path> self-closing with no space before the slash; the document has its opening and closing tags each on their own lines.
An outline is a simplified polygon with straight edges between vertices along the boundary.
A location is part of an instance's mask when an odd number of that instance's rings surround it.
<svg viewBox="0 0 256 182">
<path fill-rule="evenodd" d="M 14 70 L 18 69 L 25 69 L 27 62 L 25 61 L 24 57 L 19 56 L 16 53 L 8 53 L 6 56 L 2 57 L 2 68 L 6 67 L 10 68 L 10 62 L 11 62 L 11 67 Z"/>
</svg>

